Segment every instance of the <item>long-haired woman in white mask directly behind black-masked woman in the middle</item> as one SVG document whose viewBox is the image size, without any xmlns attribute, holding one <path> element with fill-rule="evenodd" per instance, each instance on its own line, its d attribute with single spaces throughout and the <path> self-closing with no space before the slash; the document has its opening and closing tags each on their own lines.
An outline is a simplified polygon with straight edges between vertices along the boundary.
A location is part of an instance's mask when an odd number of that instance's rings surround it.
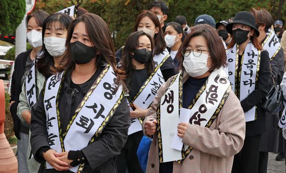
<svg viewBox="0 0 286 173">
<path fill-rule="evenodd" d="M 136 24 L 133 28 L 133 32 L 143 31 L 149 34 L 155 43 L 155 50 L 153 61 L 155 66 L 162 63 L 160 69 L 164 80 L 168 80 L 170 77 L 177 74 L 176 65 L 173 59 L 170 57 L 168 50 L 166 49 L 166 43 L 164 41 L 164 34 L 160 27 L 160 22 L 155 13 L 147 10 L 143 10 L 137 16 Z M 121 59 L 122 48 L 116 52 L 116 59 Z"/>
</svg>

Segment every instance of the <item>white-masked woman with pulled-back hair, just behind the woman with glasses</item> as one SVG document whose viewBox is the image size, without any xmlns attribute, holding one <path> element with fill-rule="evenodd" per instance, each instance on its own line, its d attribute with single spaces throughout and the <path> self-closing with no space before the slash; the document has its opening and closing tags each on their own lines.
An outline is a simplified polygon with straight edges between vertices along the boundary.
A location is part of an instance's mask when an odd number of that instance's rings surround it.
<svg viewBox="0 0 286 173">
<path fill-rule="evenodd" d="M 167 24 L 165 30 L 165 42 L 167 45 L 167 49 L 170 53 L 170 56 L 174 60 L 175 65 L 179 66 L 179 61 L 176 58 L 176 54 L 185 39 L 185 34 L 183 32 L 183 28 L 179 23 L 170 22 Z"/>
</svg>

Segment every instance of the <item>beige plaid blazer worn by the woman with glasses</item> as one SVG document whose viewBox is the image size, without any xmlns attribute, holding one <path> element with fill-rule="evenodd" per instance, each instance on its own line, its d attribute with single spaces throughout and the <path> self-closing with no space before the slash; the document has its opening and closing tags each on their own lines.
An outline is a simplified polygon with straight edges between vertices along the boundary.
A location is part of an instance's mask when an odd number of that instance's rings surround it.
<svg viewBox="0 0 286 173">
<path fill-rule="evenodd" d="M 185 72 L 185 74 L 187 73 Z M 145 135 L 145 122 L 156 119 L 157 104 L 173 78 L 161 86 L 151 109 L 146 114 L 142 125 Z M 184 76 L 183 82 L 187 79 L 188 75 Z M 183 143 L 192 146 L 193 151 L 181 164 L 174 161 L 173 172 L 231 172 L 233 156 L 241 151 L 244 144 L 245 127 L 245 117 L 240 101 L 231 91 L 221 112 L 209 129 L 197 125 L 188 125 Z M 150 146 L 146 171 L 148 173 L 159 172 L 157 134 L 154 135 Z"/>
</svg>

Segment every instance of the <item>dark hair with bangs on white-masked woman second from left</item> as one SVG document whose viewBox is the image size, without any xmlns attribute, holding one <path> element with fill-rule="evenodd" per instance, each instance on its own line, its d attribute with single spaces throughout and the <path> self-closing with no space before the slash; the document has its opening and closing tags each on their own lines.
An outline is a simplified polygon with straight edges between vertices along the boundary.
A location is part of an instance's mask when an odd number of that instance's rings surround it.
<svg viewBox="0 0 286 173">
<path fill-rule="evenodd" d="M 42 30 L 42 53 L 37 60 L 36 66 L 40 73 L 44 76 L 50 76 L 53 73 L 56 73 L 58 70 L 54 66 L 54 58 L 52 55 L 47 52 L 44 44 L 44 33 L 47 28 L 51 28 L 52 24 L 56 21 L 60 22 L 60 27 L 62 30 L 67 30 L 69 23 L 73 19 L 64 13 L 55 13 L 47 17 L 43 22 L 43 30 Z"/>
</svg>

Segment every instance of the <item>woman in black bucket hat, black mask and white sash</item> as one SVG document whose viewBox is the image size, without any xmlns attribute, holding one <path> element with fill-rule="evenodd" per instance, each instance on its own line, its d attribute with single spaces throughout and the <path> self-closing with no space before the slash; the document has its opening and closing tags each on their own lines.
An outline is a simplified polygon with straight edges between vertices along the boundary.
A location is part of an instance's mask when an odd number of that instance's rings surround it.
<svg viewBox="0 0 286 173">
<path fill-rule="evenodd" d="M 266 131 L 265 111 L 260 102 L 270 86 L 270 59 L 257 39 L 259 31 L 251 13 L 237 13 L 226 30 L 233 39 L 227 51 L 229 80 L 246 120 L 244 146 L 234 156 L 232 172 L 258 172 L 260 138 Z"/>
</svg>

